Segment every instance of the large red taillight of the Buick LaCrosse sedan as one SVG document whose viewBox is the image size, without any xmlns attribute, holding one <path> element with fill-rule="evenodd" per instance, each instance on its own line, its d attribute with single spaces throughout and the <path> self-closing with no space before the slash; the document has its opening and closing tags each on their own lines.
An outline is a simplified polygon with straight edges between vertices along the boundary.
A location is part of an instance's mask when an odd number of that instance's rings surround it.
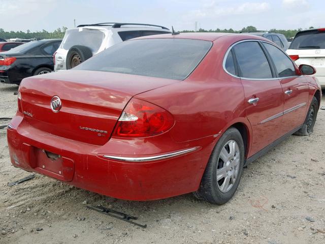
<svg viewBox="0 0 325 244">
<path fill-rule="evenodd" d="M 165 109 L 140 99 L 132 99 L 118 119 L 113 136 L 154 136 L 168 131 L 173 125 L 174 117 Z"/>
</svg>

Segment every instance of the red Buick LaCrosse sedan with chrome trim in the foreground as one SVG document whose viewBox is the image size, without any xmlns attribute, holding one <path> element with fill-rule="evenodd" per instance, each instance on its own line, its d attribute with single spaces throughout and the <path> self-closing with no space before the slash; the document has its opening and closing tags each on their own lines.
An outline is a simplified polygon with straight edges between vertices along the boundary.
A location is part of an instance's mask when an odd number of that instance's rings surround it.
<svg viewBox="0 0 325 244">
<path fill-rule="evenodd" d="M 120 199 L 194 192 L 223 204 L 243 166 L 313 131 L 313 73 L 257 36 L 129 40 L 73 70 L 23 79 L 11 162 Z"/>
</svg>

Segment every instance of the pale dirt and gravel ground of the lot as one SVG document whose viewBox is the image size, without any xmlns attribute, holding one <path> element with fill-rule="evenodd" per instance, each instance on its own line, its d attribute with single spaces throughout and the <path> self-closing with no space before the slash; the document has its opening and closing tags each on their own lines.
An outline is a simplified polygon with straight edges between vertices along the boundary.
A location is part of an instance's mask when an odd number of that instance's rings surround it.
<svg viewBox="0 0 325 244">
<path fill-rule="evenodd" d="M 17 86 L 0 84 L 0 117 L 15 114 L 14 92 Z M 11 165 L 6 128 L 0 129 L 0 243 L 325 243 L 324 145 L 325 110 L 319 110 L 311 136 L 291 136 L 250 164 L 222 206 L 191 194 L 132 202 L 41 175 L 9 187 L 30 173 Z M 89 210 L 84 201 L 138 216 L 148 227 Z"/>
</svg>

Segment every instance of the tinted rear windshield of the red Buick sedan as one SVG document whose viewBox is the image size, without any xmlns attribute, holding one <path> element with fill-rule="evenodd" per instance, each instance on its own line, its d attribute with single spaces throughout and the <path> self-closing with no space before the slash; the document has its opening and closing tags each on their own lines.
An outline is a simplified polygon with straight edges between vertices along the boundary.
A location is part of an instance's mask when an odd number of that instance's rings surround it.
<svg viewBox="0 0 325 244">
<path fill-rule="evenodd" d="M 211 46 L 212 42 L 190 39 L 126 41 L 74 69 L 183 80 L 197 67 Z"/>
</svg>

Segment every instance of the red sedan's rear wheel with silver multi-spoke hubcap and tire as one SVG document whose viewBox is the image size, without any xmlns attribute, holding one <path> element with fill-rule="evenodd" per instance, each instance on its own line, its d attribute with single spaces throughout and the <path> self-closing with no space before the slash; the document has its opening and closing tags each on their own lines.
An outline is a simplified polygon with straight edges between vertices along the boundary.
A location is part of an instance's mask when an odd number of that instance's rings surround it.
<svg viewBox="0 0 325 244">
<path fill-rule="evenodd" d="M 229 145 L 234 146 L 234 154 L 231 153 Z M 226 157 L 220 156 L 221 150 Z M 227 154 L 224 154 L 224 150 L 226 150 Z M 203 174 L 199 190 L 194 193 L 194 196 L 212 204 L 221 205 L 228 202 L 238 188 L 243 171 L 244 154 L 244 142 L 240 132 L 236 128 L 228 129 L 215 145 Z M 222 160 L 222 158 L 226 160 Z M 229 160 L 230 158 L 232 159 Z M 224 161 L 227 162 L 224 163 Z M 220 175 L 224 175 L 223 178 L 217 180 L 217 171 Z M 221 172 L 224 172 L 224 174 Z M 226 177 L 230 177 L 228 187 L 224 184 Z"/>
</svg>

